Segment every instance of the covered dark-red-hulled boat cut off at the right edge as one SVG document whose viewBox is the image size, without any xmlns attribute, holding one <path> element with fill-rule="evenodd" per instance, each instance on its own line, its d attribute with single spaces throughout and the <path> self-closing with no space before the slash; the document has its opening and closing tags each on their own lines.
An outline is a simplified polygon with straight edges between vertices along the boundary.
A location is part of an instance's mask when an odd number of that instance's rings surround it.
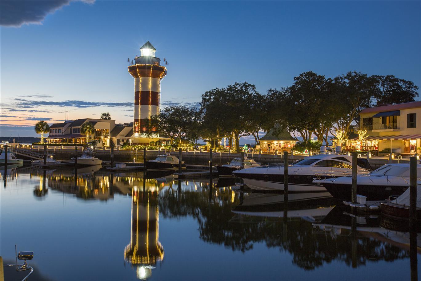
<svg viewBox="0 0 421 281">
<path fill-rule="evenodd" d="M 381 213 L 397 219 L 409 219 L 409 192 L 410 188 L 400 196 L 390 196 L 390 201 L 381 202 Z M 421 221 L 421 181 L 417 183 L 416 213 L 417 220 Z"/>
</svg>

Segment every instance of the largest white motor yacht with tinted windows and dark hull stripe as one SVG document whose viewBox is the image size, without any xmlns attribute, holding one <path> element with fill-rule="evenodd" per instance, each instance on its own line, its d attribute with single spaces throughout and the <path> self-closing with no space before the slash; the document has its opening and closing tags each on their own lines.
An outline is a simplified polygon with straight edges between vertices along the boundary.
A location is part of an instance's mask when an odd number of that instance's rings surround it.
<svg viewBox="0 0 421 281">
<path fill-rule="evenodd" d="M 358 174 L 368 174 L 367 159 L 359 159 Z M 325 177 L 341 177 L 352 174 L 352 156 L 341 154 L 319 154 L 298 160 L 288 166 L 288 191 L 326 191 L 320 183 L 313 183 L 315 174 Z M 252 190 L 284 190 L 284 166 L 261 166 L 232 172 Z"/>
</svg>

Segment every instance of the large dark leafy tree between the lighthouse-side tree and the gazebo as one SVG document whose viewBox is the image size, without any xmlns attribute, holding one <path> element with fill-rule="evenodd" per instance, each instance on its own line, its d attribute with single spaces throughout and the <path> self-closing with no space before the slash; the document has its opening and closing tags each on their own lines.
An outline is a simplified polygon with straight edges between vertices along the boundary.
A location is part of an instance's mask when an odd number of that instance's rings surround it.
<svg viewBox="0 0 421 281">
<path fill-rule="evenodd" d="M 260 100 L 261 95 L 256 87 L 247 82 L 206 91 L 200 103 L 203 112 L 202 136 L 219 140 L 233 135 L 235 150 L 240 151 L 240 136 L 258 131 L 258 121 L 251 118 L 253 114 L 250 112 L 258 110 Z"/>
</svg>

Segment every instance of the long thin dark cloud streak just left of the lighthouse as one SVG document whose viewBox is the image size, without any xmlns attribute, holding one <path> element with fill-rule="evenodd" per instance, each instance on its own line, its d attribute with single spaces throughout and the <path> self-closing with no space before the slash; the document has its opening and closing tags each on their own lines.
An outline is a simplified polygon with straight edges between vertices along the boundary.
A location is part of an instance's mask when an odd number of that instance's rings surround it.
<svg viewBox="0 0 421 281">
<path fill-rule="evenodd" d="M 23 108 L 33 108 L 33 107 L 40 107 L 40 106 L 58 106 L 58 107 L 78 107 L 78 108 L 86 108 L 86 107 L 99 107 L 99 106 L 107 106 L 107 107 L 128 107 L 133 106 L 133 102 L 86 102 L 86 101 L 79 101 L 79 100 L 67 100 L 63 102 L 49 102 L 49 101 L 35 101 L 30 99 L 14 99 L 14 106 L 16 107 L 23 107 Z"/>
</svg>

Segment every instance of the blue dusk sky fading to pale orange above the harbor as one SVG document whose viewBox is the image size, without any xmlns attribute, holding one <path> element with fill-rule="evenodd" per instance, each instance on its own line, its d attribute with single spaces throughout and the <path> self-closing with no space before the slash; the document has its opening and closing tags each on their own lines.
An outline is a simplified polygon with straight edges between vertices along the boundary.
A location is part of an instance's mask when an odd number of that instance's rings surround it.
<svg viewBox="0 0 421 281">
<path fill-rule="evenodd" d="M 395 75 L 421 86 L 421 1 L 0 2 L 0 136 L 34 124 L 133 121 L 127 59 L 168 60 L 161 107 L 247 81 L 265 94 L 312 70 Z"/>
</svg>

